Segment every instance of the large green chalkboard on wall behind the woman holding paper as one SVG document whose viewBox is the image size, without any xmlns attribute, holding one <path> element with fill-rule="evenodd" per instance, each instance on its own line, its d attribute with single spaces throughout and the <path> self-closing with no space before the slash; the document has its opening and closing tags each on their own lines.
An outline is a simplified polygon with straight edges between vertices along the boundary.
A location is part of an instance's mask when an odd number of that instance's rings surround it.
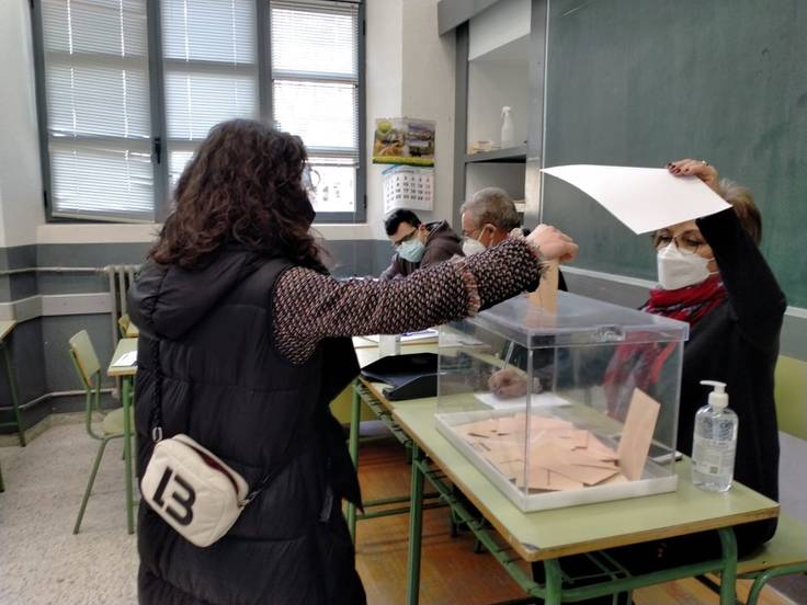
<svg viewBox="0 0 807 605">
<path fill-rule="evenodd" d="M 807 1 L 550 0 L 545 164 L 706 158 L 751 189 L 762 251 L 807 307 Z M 550 176 L 577 266 L 655 277 L 649 238 Z"/>
</svg>

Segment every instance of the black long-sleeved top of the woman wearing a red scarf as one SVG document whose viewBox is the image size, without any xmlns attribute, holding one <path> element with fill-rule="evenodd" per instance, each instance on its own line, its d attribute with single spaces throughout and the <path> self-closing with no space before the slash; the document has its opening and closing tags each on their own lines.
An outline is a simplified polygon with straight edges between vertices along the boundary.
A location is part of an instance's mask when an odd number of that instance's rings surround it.
<svg viewBox="0 0 807 605">
<path fill-rule="evenodd" d="M 726 383 L 729 408 L 739 416 L 735 479 L 777 500 L 773 372 L 785 295 L 732 209 L 701 218 L 697 226 L 715 254 L 728 299 L 695 323 L 684 345 L 678 447 L 692 454 L 695 412 L 709 392 L 700 381 Z M 740 551 L 768 540 L 775 528 L 775 520 L 739 526 Z"/>
</svg>

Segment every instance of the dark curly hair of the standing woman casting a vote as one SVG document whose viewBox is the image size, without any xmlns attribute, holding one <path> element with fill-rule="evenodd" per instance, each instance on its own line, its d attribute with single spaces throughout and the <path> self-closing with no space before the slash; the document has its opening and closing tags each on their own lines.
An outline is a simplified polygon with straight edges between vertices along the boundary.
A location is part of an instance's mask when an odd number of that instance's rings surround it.
<svg viewBox="0 0 807 605">
<path fill-rule="evenodd" d="M 185 167 L 149 258 L 185 269 L 204 265 L 228 243 L 322 269 L 308 232 L 314 208 L 303 184 L 299 137 L 252 119 L 214 126 Z"/>
</svg>

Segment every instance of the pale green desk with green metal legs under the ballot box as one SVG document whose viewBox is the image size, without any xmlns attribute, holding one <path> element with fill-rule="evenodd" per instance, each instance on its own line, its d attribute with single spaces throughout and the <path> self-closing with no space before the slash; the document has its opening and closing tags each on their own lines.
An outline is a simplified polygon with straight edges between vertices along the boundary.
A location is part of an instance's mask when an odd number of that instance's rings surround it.
<svg viewBox="0 0 807 605">
<path fill-rule="evenodd" d="M 410 534 L 407 603 L 419 600 L 420 549 L 423 514 L 423 482 L 429 479 L 448 500 L 454 511 L 468 521 L 476 537 L 491 551 L 513 579 L 533 596 L 547 604 L 564 598 L 579 600 L 627 592 L 679 578 L 720 572 L 720 604 L 735 604 L 737 544 L 731 527 L 741 523 L 775 517 L 778 504 L 735 482 L 726 493 L 709 493 L 690 481 L 690 463 L 678 463 L 678 491 L 664 494 L 602 502 L 567 509 L 522 513 L 476 467 L 435 429 L 436 399 L 398 406 L 394 419 L 414 442 L 410 502 Z M 476 505 L 507 545 L 493 539 L 485 525 L 473 520 L 462 503 L 452 498 L 443 473 Z M 724 549 L 721 560 L 693 563 L 646 575 L 623 577 L 595 585 L 561 589 L 558 558 L 600 551 L 671 536 L 717 529 Z M 538 585 L 516 564 L 544 561 L 547 581 Z"/>
</svg>

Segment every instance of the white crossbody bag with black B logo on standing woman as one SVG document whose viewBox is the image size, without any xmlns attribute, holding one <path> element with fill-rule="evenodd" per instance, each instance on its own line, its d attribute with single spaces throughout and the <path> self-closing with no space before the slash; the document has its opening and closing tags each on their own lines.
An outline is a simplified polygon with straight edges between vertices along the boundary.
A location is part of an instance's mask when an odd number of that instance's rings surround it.
<svg viewBox="0 0 807 605">
<path fill-rule="evenodd" d="M 232 468 L 187 435 L 162 438 L 162 373 L 155 341 L 155 407 L 151 415 L 151 459 L 140 481 L 143 499 L 182 537 L 198 547 L 221 538 L 245 506 L 272 478 L 266 475 L 250 491 Z"/>
</svg>

